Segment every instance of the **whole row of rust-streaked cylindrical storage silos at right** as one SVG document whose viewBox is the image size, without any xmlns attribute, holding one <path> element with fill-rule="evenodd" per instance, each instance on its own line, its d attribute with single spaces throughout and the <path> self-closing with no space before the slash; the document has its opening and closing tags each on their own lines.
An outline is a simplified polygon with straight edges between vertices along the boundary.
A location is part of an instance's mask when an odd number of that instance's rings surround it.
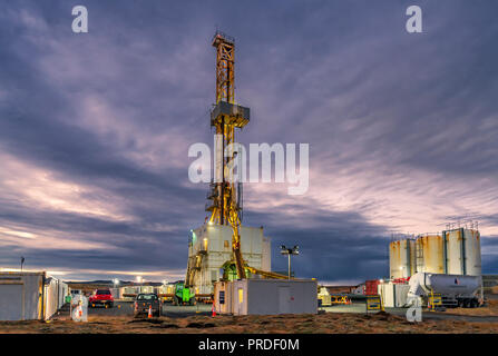
<svg viewBox="0 0 498 356">
<path fill-rule="evenodd" d="M 480 234 L 458 228 L 391 241 L 389 266 L 392 279 L 416 273 L 481 276 Z"/>
</svg>

